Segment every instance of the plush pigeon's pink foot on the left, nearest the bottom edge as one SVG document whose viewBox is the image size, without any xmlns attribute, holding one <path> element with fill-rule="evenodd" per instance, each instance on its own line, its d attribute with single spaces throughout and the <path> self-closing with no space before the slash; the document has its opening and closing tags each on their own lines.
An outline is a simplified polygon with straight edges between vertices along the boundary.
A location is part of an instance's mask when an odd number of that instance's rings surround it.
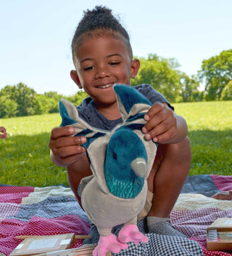
<svg viewBox="0 0 232 256">
<path fill-rule="evenodd" d="M 109 236 L 100 236 L 99 243 L 94 249 L 94 256 L 106 256 L 107 252 L 120 252 L 121 249 L 127 249 L 128 244 L 124 244 L 117 239 L 113 233 Z"/>
</svg>

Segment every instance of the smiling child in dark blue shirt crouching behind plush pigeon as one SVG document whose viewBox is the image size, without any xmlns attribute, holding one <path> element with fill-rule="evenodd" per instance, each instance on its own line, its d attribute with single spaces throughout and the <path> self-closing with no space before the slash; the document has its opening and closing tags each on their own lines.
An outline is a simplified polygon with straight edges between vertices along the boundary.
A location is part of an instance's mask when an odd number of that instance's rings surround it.
<svg viewBox="0 0 232 256">
<path fill-rule="evenodd" d="M 110 9 L 95 7 L 85 12 L 72 39 L 72 59 L 75 70 L 70 76 L 90 96 L 77 107 L 80 117 L 94 127 L 111 130 L 122 122 L 113 84 L 129 85 L 138 73 L 139 61 L 133 60 L 128 33 Z M 147 123 L 142 131 L 147 140 L 159 143 L 148 178 L 146 205 L 138 219 L 146 217 L 150 233 L 183 236 L 172 228 L 168 217 L 191 163 L 186 121 L 149 84 L 136 89 L 154 104 L 144 116 Z M 54 164 L 67 168 L 70 188 L 80 202 L 80 180 L 92 173 L 81 146 L 86 137 L 70 137 L 74 132 L 72 127 L 53 129 L 49 147 Z"/>
</svg>

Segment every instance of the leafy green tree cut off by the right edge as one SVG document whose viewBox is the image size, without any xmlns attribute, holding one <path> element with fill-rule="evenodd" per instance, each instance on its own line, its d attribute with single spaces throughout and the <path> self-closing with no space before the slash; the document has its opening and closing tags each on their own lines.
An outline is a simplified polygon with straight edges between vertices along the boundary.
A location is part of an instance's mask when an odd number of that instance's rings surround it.
<svg viewBox="0 0 232 256">
<path fill-rule="evenodd" d="M 205 99 L 220 100 L 224 87 L 232 79 L 232 49 L 203 60 L 199 78 L 205 83 Z"/>
</svg>

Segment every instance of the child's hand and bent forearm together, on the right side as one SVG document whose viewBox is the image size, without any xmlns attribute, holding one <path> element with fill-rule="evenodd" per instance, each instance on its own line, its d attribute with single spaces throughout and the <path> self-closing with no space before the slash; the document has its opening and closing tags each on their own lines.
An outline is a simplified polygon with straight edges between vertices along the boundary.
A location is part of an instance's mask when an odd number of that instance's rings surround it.
<svg viewBox="0 0 232 256">
<path fill-rule="evenodd" d="M 179 143 L 188 134 L 188 127 L 182 116 L 175 114 L 166 103 L 155 103 L 147 111 L 143 127 L 147 140 L 160 144 Z"/>
</svg>

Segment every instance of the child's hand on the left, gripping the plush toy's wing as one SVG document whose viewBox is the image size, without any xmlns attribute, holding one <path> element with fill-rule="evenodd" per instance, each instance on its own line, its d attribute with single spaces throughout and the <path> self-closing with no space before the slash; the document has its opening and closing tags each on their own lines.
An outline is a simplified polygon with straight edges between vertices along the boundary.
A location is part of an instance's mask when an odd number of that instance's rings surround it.
<svg viewBox="0 0 232 256">
<path fill-rule="evenodd" d="M 68 167 L 83 156 L 86 149 L 81 144 L 86 143 L 86 137 L 70 137 L 74 132 L 73 127 L 59 127 L 51 131 L 49 148 L 54 164 Z"/>
</svg>

